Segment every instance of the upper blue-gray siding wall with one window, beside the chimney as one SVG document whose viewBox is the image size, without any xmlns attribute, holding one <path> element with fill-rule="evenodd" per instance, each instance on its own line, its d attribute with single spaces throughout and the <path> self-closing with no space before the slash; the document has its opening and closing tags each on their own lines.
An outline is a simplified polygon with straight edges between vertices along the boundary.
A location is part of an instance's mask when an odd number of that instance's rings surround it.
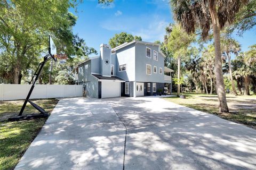
<svg viewBox="0 0 256 170">
<path fill-rule="evenodd" d="M 119 65 L 126 64 L 126 71 L 119 72 Z M 116 51 L 116 75 L 125 81 L 135 80 L 135 43 Z"/>
</svg>

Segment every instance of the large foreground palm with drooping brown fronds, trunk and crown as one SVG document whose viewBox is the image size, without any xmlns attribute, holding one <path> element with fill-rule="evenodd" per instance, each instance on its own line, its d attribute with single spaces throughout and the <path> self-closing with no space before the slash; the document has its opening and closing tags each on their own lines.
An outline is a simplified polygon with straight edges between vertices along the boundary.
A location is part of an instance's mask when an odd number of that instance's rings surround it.
<svg viewBox="0 0 256 170">
<path fill-rule="evenodd" d="M 201 28 L 202 37 L 206 38 L 212 25 L 219 112 L 228 112 L 222 74 L 220 30 L 227 22 L 229 24 L 233 23 L 236 13 L 248 2 L 249 0 L 171 0 L 175 20 L 188 33 L 194 33 L 197 28 Z"/>
</svg>

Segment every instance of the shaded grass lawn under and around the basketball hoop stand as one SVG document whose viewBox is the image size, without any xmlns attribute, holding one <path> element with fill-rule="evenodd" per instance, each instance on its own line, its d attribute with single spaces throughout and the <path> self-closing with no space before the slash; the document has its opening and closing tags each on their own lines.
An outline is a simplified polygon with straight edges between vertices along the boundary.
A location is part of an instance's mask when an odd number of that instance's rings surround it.
<svg viewBox="0 0 256 170">
<path fill-rule="evenodd" d="M 57 99 L 32 100 L 51 112 Z M 23 100 L 0 102 L 0 169 L 14 169 L 20 158 L 25 153 L 30 143 L 35 139 L 47 118 L 39 118 L 29 121 L 7 122 L 10 116 L 18 115 Z M 27 104 L 24 114 L 38 113 L 38 111 Z"/>
</svg>

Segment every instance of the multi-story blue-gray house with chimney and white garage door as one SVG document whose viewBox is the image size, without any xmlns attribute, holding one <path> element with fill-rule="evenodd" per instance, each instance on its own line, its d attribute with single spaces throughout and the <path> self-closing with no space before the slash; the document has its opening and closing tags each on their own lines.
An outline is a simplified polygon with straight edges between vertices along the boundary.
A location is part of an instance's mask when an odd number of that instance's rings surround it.
<svg viewBox="0 0 256 170">
<path fill-rule="evenodd" d="M 171 72 L 159 44 L 131 41 L 113 49 L 100 45 L 100 56 L 77 65 L 77 83 L 92 98 L 151 96 L 171 92 Z"/>
</svg>

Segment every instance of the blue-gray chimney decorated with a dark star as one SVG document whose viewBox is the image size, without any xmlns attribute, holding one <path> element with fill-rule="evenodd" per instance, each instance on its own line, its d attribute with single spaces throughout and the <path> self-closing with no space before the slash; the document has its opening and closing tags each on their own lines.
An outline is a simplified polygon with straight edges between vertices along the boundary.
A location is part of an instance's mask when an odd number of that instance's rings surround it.
<svg viewBox="0 0 256 170">
<path fill-rule="evenodd" d="M 100 45 L 100 74 L 111 77 L 111 47 L 107 44 Z"/>
</svg>

